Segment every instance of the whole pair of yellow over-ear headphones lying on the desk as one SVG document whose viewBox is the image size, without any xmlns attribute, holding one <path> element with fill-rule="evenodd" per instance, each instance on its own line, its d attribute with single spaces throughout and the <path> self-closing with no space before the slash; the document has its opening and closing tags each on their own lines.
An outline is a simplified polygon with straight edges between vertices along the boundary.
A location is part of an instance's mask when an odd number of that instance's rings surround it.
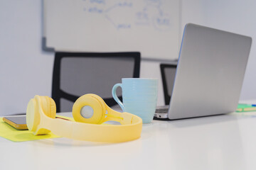
<svg viewBox="0 0 256 170">
<path fill-rule="evenodd" d="M 51 131 L 61 137 L 91 142 L 126 142 L 136 140 L 142 132 L 142 118 L 112 110 L 95 94 L 80 96 L 73 105 L 72 113 L 76 122 L 56 119 L 53 98 L 36 95 L 28 102 L 26 110 L 28 130 L 34 135 L 44 135 Z M 101 125 L 109 120 L 121 125 Z"/>
</svg>

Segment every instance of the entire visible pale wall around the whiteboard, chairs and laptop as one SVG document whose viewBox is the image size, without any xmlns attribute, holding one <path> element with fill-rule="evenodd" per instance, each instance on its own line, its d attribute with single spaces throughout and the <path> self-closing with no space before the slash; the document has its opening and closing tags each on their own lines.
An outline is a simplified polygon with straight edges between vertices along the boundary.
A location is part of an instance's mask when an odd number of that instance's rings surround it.
<svg viewBox="0 0 256 170">
<path fill-rule="evenodd" d="M 256 1 L 183 0 L 182 28 L 198 23 L 252 36 L 256 40 L 253 16 Z M 35 94 L 50 96 L 53 53 L 41 50 L 42 1 L 0 1 L 0 115 L 26 111 Z M 252 45 L 242 88 L 242 99 L 256 98 L 256 45 Z M 159 101 L 164 104 L 160 62 L 142 61 L 141 77 L 159 78 Z"/>
</svg>

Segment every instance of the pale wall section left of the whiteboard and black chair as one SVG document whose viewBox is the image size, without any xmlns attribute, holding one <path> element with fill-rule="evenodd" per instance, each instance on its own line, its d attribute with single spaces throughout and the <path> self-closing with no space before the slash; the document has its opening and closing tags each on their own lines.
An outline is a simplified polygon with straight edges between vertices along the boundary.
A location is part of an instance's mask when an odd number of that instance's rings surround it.
<svg viewBox="0 0 256 170">
<path fill-rule="evenodd" d="M 41 50 L 41 4 L 0 1 L 0 115 L 26 112 L 35 94 L 50 96 L 53 54 Z"/>
</svg>

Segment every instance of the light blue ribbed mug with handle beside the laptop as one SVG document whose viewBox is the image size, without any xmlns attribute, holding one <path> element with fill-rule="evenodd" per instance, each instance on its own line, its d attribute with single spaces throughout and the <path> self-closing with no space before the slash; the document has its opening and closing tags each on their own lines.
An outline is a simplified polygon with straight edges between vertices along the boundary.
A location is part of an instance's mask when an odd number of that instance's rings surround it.
<svg viewBox="0 0 256 170">
<path fill-rule="evenodd" d="M 122 111 L 138 115 L 143 123 L 151 123 L 156 111 L 157 79 L 124 78 L 122 84 L 115 84 L 112 96 Z M 117 87 L 122 88 L 123 103 L 117 97 Z"/>
</svg>

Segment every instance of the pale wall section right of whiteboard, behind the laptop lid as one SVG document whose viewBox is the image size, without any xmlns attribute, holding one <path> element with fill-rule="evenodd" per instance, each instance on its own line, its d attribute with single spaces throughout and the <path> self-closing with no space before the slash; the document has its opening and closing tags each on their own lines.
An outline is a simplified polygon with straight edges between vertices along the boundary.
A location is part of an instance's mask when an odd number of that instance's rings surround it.
<svg viewBox="0 0 256 170">
<path fill-rule="evenodd" d="M 183 0 L 182 27 L 198 23 L 252 37 L 252 48 L 241 91 L 241 100 L 256 98 L 256 1 Z"/>
</svg>

